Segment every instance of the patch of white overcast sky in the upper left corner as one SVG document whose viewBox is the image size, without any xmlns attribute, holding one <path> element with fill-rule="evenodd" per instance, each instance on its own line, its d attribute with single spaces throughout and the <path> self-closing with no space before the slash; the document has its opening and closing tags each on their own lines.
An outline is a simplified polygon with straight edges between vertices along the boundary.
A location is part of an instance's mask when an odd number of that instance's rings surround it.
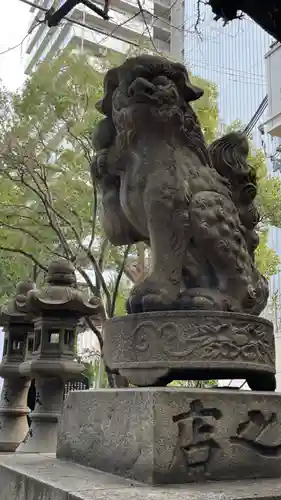
<svg viewBox="0 0 281 500">
<path fill-rule="evenodd" d="M 31 19 L 30 7 L 20 0 L 0 0 L 0 78 L 11 90 L 17 89 L 24 81 L 24 48 L 1 52 L 19 44 L 28 30 Z"/>
</svg>

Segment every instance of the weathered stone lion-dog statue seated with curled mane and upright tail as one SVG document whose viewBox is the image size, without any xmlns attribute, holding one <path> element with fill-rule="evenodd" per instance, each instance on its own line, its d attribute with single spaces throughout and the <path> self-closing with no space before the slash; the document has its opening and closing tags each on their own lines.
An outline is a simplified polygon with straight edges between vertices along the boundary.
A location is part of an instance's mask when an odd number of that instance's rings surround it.
<svg viewBox="0 0 281 500">
<path fill-rule="evenodd" d="M 259 216 L 247 139 L 209 147 L 185 67 L 142 55 L 108 71 L 91 166 L 116 245 L 145 241 L 151 270 L 128 312 L 216 309 L 260 314 L 268 286 L 254 262 Z"/>
</svg>

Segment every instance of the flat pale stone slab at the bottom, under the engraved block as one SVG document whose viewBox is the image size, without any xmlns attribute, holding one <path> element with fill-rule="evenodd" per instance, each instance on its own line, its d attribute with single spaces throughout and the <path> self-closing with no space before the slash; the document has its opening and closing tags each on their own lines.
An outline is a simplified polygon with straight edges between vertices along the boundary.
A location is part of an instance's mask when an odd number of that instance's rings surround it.
<svg viewBox="0 0 281 500">
<path fill-rule="evenodd" d="M 281 500 L 279 479 L 145 486 L 53 455 L 0 455 L 0 500 Z"/>
</svg>

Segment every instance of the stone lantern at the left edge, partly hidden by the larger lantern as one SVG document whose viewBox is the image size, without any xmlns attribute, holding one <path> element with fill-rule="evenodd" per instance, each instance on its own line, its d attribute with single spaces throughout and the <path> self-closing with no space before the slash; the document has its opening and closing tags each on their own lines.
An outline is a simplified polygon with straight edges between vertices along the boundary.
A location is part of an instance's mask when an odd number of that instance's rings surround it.
<svg viewBox="0 0 281 500">
<path fill-rule="evenodd" d="M 15 451 L 28 433 L 30 379 L 20 373 L 19 366 L 28 357 L 28 339 L 32 336 L 33 323 L 27 310 L 26 295 L 34 288 L 34 283 L 19 283 L 14 299 L 1 309 L 5 340 L 0 364 L 0 375 L 4 378 L 0 402 L 0 451 Z"/>
</svg>

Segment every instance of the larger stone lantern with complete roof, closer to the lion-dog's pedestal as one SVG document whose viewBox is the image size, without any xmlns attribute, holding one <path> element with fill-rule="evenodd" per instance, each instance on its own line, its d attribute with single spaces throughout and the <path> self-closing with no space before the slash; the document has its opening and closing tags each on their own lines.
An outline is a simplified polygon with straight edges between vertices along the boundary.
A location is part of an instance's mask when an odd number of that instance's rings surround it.
<svg viewBox="0 0 281 500">
<path fill-rule="evenodd" d="M 54 453 L 61 414 L 64 384 L 84 366 L 75 360 L 77 326 L 85 316 L 100 313 L 100 301 L 89 303 L 76 288 L 75 270 L 65 260 L 52 262 L 48 284 L 28 294 L 33 314 L 34 344 L 31 359 L 20 372 L 36 379 L 36 405 L 31 413 L 28 438 L 17 451 Z"/>
</svg>

